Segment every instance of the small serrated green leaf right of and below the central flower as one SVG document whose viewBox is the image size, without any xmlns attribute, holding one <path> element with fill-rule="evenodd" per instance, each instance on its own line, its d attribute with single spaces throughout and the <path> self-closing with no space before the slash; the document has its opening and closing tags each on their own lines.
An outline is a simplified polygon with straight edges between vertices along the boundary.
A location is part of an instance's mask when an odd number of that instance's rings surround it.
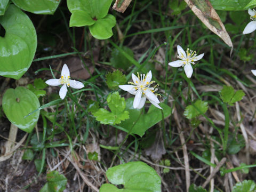
<svg viewBox="0 0 256 192">
<path fill-rule="evenodd" d="M 188 119 L 193 119 L 198 115 L 204 114 L 208 109 L 208 103 L 202 100 L 197 100 L 193 105 L 186 107 L 184 115 Z"/>
</svg>

